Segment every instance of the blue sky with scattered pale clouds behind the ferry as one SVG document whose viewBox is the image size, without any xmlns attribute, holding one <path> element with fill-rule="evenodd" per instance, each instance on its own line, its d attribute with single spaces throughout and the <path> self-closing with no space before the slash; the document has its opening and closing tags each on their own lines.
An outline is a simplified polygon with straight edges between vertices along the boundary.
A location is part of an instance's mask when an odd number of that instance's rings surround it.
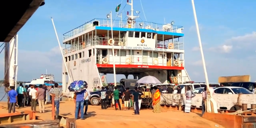
<svg viewBox="0 0 256 128">
<path fill-rule="evenodd" d="M 153 1 L 152 1 L 153 2 Z M 149 22 L 164 23 L 175 21 L 174 25 L 183 26 L 185 69 L 190 79 L 204 82 L 205 76 L 199 49 L 195 19 L 191 1 L 134 1 L 134 10 L 140 11 L 140 18 Z M 60 42 L 62 34 L 71 31 L 86 21 L 94 18 L 106 18 L 121 3 L 126 1 L 81 1 L 54 0 L 34 13 L 24 27 L 18 32 L 18 81 L 31 81 L 40 74 L 51 73 L 56 81 L 61 81 L 62 58 L 53 29 L 51 17 Z M 256 81 L 256 30 L 254 10 L 256 1 L 225 0 L 195 1 L 197 18 L 203 44 L 209 82 L 218 82 L 219 76 L 251 75 Z M 123 14 L 130 11 L 126 6 Z M 254 24 L 254 25 L 253 25 Z M 254 32 L 255 31 L 255 32 Z M 1 77 L 4 77 L 4 54 Z M 108 82 L 113 82 L 113 74 L 107 75 Z M 117 81 L 124 75 L 117 75 Z M 129 76 L 130 78 L 130 76 Z"/>
</svg>

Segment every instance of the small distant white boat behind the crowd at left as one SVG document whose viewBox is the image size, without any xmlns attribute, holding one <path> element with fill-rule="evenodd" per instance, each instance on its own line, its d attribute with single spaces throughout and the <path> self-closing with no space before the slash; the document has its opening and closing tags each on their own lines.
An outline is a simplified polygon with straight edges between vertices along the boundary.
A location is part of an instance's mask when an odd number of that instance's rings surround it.
<svg viewBox="0 0 256 128">
<path fill-rule="evenodd" d="M 40 78 L 37 79 L 33 79 L 31 82 L 29 83 L 25 83 L 24 85 L 42 85 L 45 84 L 48 81 L 54 81 L 54 75 L 53 74 L 41 74 Z M 49 86 L 48 84 L 46 84 L 47 86 Z M 62 87 L 62 83 L 58 83 L 58 88 Z"/>
</svg>

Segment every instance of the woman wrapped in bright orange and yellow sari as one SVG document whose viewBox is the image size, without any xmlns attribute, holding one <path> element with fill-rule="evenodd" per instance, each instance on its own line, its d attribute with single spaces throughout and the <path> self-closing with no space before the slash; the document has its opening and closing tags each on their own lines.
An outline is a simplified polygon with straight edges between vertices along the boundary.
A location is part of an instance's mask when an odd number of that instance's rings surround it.
<svg viewBox="0 0 256 128">
<path fill-rule="evenodd" d="M 160 110 L 160 96 L 161 96 L 161 93 L 159 91 L 159 89 L 155 86 L 153 87 L 155 90 L 156 90 L 156 93 L 154 94 L 153 96 L 153 112 L 154 113 L 161 113 L 161 110 Z"/>
</svg>

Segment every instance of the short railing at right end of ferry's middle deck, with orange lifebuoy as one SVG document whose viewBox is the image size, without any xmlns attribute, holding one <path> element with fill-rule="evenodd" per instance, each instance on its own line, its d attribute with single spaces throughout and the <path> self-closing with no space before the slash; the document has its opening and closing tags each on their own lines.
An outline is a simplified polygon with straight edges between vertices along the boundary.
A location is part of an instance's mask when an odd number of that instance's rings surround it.
<svg viewBox="0 0 256 128">
<path fill-rule="evenodd" d="M 165 49 L 169 49 L 168 47 L 171 46 L 173 43 L 173 48 L 172 49 L 179 49 L 179 50 L 183 50 L 183 42 L 178 42 L 178 41 L 157 41 L 157 48 L 165 48 Z"/>
</svg>

